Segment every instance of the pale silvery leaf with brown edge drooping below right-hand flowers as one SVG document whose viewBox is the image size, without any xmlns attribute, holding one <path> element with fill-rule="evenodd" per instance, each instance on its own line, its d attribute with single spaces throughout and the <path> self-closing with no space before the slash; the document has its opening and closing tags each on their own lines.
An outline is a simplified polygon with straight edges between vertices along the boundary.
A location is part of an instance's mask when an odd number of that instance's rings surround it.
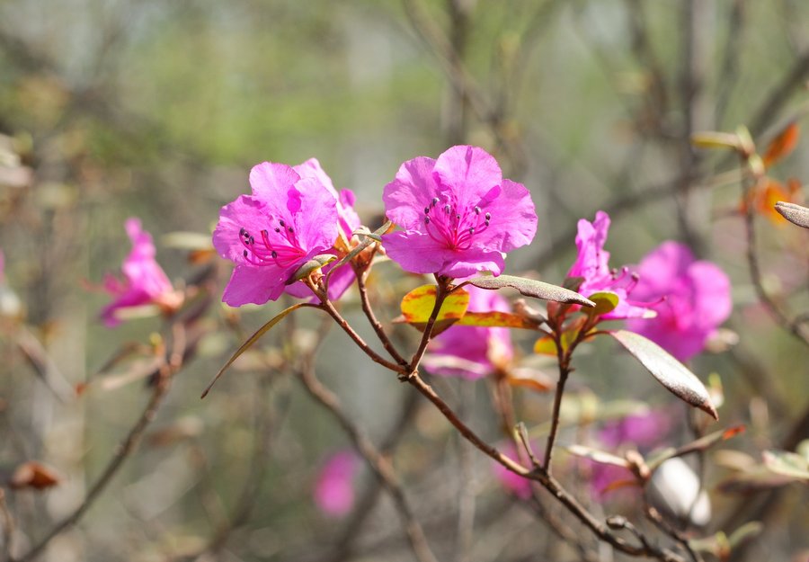
<svg viewBox="0 0 809 562">
<path fill-rule="evenodd" d="M 719 419 L 702 381 L 660 345 L 647 340 L 643 335 L 627 330 L 614 330 L 608 334 L 632 353 L 646 370 L 652 373 L 652 376 L 662 386 L 668 388 L 674 396 L 707 412 L 714 419 Z"/>
</svg>

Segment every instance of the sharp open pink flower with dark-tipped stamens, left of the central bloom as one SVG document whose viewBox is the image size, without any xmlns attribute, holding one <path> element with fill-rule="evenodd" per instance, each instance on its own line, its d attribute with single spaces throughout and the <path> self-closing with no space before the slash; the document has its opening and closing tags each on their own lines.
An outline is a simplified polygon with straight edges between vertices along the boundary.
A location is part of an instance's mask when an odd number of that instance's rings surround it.
<svg viewBox="0 0 809 562">
<path fill-rule="evenodd" d="M 236 263 L 222 296 L 232 307 L 278 299 L 303 263 L 332 250 L 338 234 L 333 191 L 319 174 L 264 162 L 250 171 L 250 186 L 253 195 L 219 211 L 213 234 L 219 255 Z"/>
</svg>

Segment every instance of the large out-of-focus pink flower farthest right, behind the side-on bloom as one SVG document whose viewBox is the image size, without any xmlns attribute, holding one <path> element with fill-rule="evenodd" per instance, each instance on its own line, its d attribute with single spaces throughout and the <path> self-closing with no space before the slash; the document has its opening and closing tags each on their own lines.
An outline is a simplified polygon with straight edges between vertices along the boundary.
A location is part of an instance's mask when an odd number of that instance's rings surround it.
<svg viewBox="0 0 809 562">
<path fill-rule="evenodd" d="M 632 320 L 645 335 L 680 361 L 701 352 L 707 338 L 730 316 L 730 280 L 714 263 L 696 261 L 688 246 L 663 242 L 641 261 L 634 295 L 657 300 L 657 317 Z"/>
</svg>

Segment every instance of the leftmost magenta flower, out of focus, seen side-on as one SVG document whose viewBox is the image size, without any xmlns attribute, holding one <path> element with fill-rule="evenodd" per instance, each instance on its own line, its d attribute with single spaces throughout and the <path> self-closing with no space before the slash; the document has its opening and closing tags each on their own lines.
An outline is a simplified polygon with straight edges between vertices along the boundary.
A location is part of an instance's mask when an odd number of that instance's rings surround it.
<svg viewBox="0 0 809 562">
<path fill-rule="evenodd" d="M 173 290 L 171 281 L 155 261 L 155 244 L 152 235 L 140 226 L 139 219 L 127 219 L 124 223 L 132 251 L 121 266 L 123 279 L 108 273 L 103 289 L 114 300 L 102 310 L 102 319 L 107 326 L 118 326 L 117 312 L 122 308 L 156 304 L 166 310 L 180 306 L 182 295 Z"/>
</svg>

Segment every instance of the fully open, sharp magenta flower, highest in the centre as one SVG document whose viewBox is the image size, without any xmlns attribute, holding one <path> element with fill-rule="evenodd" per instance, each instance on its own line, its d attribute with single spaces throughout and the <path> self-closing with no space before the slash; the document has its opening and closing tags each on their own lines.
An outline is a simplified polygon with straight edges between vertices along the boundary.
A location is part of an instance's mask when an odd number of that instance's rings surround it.
<svg viewBox="0 0 809 562">
<path fill-rule="evenodd" d="M 383 236 L 387 255 L 408 272 L 499 275 L 505 253 L 537 232 L 529 191 L 502 179 L 483 148 L 451 147 L 438 160 L 408 160 L 382 200 L 387 218 L 403 228 Z"/>
</svg>

